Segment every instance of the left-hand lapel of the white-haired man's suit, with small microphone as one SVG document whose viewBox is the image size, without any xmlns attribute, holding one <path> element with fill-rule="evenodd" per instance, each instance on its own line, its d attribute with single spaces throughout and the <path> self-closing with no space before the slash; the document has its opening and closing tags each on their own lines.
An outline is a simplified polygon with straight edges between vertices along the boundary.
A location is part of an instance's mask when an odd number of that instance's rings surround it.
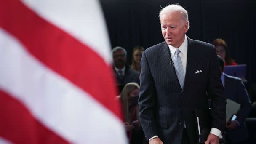
<svg viewBox="0 0 256 144">
<path fill-rule="evenodd" d="M 179 80 L 176 76 L 176 72 L 174 69 L 173 64 L 170 63 L 171 60 L 171 53 L 170 53 L 170 49 L 167 45 L 167 43 L 163 43 L 163 46 L 161 47 L 161 53 L 160 53 L 160 63 L 163 65 L 163 67 L 165 68 L 165 70 L 167 71 L 168 75 L 171 77 L 171 79 L 174 81 L 174 83 L 176 85 L 179 85 Z"/>
</svg>

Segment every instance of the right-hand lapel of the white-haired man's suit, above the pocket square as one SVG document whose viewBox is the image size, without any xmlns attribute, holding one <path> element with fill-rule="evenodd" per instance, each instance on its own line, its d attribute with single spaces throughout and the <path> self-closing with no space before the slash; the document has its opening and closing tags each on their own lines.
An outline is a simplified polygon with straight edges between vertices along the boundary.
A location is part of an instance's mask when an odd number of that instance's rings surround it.
<svg viewBox="0 0 256 144">
<path fill-rule="evenodd" d="M 188 77 L 191 77 L 191 75 L 195 74 L 194 70 L 196 67 L 197 60 L 199 58 L 199 49 L 194 46 L 193 40 L 187 37 L 187 41 L 187 69 L 184 81 L 184 88 L 186 88 L 186 85 L 188 83 Z"/>
</svg>

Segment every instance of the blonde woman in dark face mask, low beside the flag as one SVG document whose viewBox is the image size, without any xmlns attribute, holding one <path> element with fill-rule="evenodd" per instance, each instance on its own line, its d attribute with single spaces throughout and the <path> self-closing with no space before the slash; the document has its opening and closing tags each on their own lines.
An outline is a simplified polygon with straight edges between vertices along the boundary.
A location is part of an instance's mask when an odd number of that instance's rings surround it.
<svg viewBox="0 0 256 144">
<path fill-rule="evenodd" d="M 141 129 L 138 114 L 139 85 L 127 83 L 120 93 L 124 125 L 130 144 L 142 144 L 144 133 Z"/>
</svg>

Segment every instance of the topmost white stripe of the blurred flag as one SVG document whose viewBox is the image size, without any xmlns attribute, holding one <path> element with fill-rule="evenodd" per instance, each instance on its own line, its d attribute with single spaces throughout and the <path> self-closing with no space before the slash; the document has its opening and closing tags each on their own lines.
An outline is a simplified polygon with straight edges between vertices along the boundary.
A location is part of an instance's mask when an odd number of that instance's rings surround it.
<svg viewBox="0 0 256 144">
<path fill-rule="evenodd" d="M 89 45 L 111 64 L 110 43 L 98 0 L 21 0 L 43 19 Z"/>
</svg>

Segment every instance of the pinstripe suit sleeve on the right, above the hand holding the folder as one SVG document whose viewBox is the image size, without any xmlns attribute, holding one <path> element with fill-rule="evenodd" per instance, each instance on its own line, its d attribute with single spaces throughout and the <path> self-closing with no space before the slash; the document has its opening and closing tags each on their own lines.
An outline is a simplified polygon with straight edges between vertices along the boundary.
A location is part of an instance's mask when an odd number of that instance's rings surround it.
<svg viewBox="0 0 256 144">
<path fill-rule="evenodd" d="M 210 51 L 210 69 L 208 75 L 207 94 L 211 99 L 212 128 L 225 131 L 226 124 L 226 99 L 224 98 L 224 88 L 221 83 L 221 71 L 216 51 Z"/>
</svg>

